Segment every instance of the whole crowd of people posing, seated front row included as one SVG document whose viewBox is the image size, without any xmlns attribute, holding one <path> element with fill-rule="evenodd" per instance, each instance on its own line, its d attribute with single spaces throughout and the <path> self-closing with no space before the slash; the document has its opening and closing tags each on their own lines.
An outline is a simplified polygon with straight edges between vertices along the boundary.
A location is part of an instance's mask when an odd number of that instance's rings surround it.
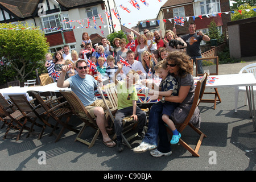
<svg viewBox="0 0 256 182">
<path fill-rule="evenodd" d="M 133 32 L 137 39 L 134 39 Z M 127 29 L 127 40 L 115 38 L 114 47 L 106 38 L 101 39 L 100 46 L 93 48 L 88 33 L 82 34 L 81 50 L 69 52 L 69 46 L 64 46 L 63 52 L 57 51 L 52 57 L 46 55 L 46 64 L 51 76 L 60 88 L 70 87 L 77 94 L 89 114 L 96 118 L 101 130 L 103 143 L 107 147 L 118 146 L 123 150 L 122 144 L 122 117 L 130 115 L 139 121 L 138 135 L 142 143 L 135 147 L 134 152 L 152 150 L 152 156 L 168 156 L 171 154 L 170 142 L 166 133 L 166 125 L 173 131 L 171 144 L 179 142 L 181 134 L 175 128 L 175 123 L 183 122 L 189 107 L 192 105 L 195 86 L 193 84 L 193 65 L 191 59 L 201 56 L 200 42 L 209 41 L 203 32 L 196 32 L 196 25 L 189 24 L 189 34 L 177 37 L 176 29 L 162 31 L 143 30 L 139 34 L 133 29 Z M 172 44 L 175 40 L 175 46 Z M 96 65 L 96 69 L 89 68 L 88 61 Z M 123 64 L 126 61 L 127 65 Z M 198 61 L 199 68 L 201 67 Z M 59 68 L 59 69 L 58 69 Z M 201 72 L 201 69 L 199 69 Z M 152 99 L 160 101 L 152 105 L 148 120 L 147 133 L 143 127 L 146 125 L 146 115 L 137 106 L 138 101 L 134 84 L 139 79 L 158 73 L 162 79 L 160 85 L 151 85 L 146 80 L 142 82 L 151 90 L 148 94 Z M 94 75 L 101 75 L 98 83 L 102 85 L 102 78 L 109 78 L 115 82 L 117 88 L 125 90 L 118 96 L 118 111 L 114 121 L 114 129 L 109 127 L 104 118 L 104 104 L 94 96 L 97 81 Z M 191 123 L 200 126 L 200 112 L 197 109 Z M 117 141 L 109 137 L 109 133 L 117 134 Z M 158 144 L 159 138 L 159 144 Z"/>
</svg>

